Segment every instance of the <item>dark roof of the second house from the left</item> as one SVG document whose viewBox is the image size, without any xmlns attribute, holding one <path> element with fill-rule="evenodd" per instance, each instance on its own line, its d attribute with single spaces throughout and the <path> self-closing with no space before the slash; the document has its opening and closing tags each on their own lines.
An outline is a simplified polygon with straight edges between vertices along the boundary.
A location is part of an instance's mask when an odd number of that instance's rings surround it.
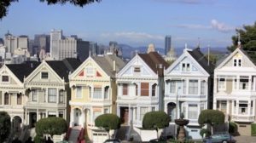
<svg viewBox="0 0 256 143">
<path fill-rule="evenodd" d="M 73 72 L 81 64 L 81 61 L 77 59 L 47 60 L 46 62 L 59 77 L 64 77 L 65 82 L 68 82 L 69 73 Z"/>
</svg>

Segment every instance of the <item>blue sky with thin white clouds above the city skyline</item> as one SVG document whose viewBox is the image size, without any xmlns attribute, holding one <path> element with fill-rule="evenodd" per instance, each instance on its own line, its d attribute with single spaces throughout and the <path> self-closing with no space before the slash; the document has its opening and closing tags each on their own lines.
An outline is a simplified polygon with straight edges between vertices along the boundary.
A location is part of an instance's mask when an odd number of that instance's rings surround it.
<svg viewBox="0 0 256 143">
<path fill-rule="evenodd" d="M 106 45 L 116 41 L 164 48 L 166 35 L 171 35 L 174 48 L 185 43 L 226 48 L 236 28 L 256 21 L 255 5 L 254 0 L 102 0 L 80 8 L 20 0 L 0 20 L 0 37 L 10 31 L 33 39 L 35 34 L 61 29 L 64 36 Z"/>
</svg>

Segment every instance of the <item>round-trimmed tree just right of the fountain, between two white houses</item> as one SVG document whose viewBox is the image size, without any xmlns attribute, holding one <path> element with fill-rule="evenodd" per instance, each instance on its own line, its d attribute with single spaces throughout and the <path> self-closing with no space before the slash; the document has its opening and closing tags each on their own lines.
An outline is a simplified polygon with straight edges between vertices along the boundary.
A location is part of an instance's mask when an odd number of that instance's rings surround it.
<svg viewBox="0 0 256 143">
<path fill-rule="evenodd" d="M 215 125 L 224 123 L 225 115 L 223 112 L 220 112 L 218 110 L 203 110 L 199 117 L 198 117 L 198 123 L 202 126 L 207 124 L 211 125 L 213 128 Z"/>
</svg>

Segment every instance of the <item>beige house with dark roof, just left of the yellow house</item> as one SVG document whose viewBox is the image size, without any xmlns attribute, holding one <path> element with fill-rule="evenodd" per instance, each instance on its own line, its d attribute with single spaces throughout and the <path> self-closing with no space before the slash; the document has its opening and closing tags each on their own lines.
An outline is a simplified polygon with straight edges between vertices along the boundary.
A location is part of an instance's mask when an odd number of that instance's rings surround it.
<svg viewBox="0 0 256 143">
<path fill-rule="evenodd" d="M 24 79 L 26 124 L 31 127 L 44 117 L 63 117 L 69 121 L 70 89 L 68 75 L 80 65 L 77 59 L 43 60 Z"/>
</svg>

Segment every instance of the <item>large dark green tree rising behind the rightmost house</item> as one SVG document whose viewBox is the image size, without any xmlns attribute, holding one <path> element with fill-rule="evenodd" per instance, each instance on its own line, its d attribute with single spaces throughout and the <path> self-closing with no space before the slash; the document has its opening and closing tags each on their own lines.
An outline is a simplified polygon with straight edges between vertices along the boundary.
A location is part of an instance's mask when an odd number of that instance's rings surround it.
<svg viewBox="0 0 256 143">
<path fill-rule="evenodd" d="M 236 29 L 240 35 L 242 49 L 246 51 L 256 51 L 256 22 L 253 26 L 243 26 L 241 29 Z M 232 43 L 228 49 L 232 52 L 238 46 L 238 36 L 232 37 Z"/>
</svg>

